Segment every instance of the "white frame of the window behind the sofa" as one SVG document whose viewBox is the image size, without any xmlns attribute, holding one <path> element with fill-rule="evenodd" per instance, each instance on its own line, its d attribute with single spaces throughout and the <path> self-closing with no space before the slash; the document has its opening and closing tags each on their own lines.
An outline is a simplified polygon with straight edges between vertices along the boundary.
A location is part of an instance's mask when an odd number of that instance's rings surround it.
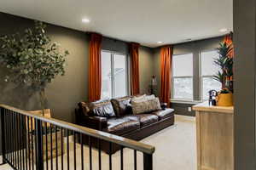
<svg viewBox="0 0 256 170">
<path fill-rule="evenodd" d="M 111 96 L 110 96 L 110 99 L 113 99 L 115 98 L 115 84 L 114 84 L 114 61 L 113 61 L 113 56 L 114 55 L 124 55 L 125 56 L 125 77 L 126 77 L 126 84 L 125 84 L 125 95 L 128 95 L 129 94 L 129 77 L 128 77 L 128 72 L 129 72 L 129 69 L 128 69 L 128 55 L 127 54 L 123 54 L 123 53 L 119 53 L 119 52 L 114 52 L 114 51 L 110 51 L 110 50 L 105 50 L 105 49 L 102 49 L 101 53 L 102 52 L 105 52 L 105 53 L 110 53 L 111 55 Z"/>
</svg>

